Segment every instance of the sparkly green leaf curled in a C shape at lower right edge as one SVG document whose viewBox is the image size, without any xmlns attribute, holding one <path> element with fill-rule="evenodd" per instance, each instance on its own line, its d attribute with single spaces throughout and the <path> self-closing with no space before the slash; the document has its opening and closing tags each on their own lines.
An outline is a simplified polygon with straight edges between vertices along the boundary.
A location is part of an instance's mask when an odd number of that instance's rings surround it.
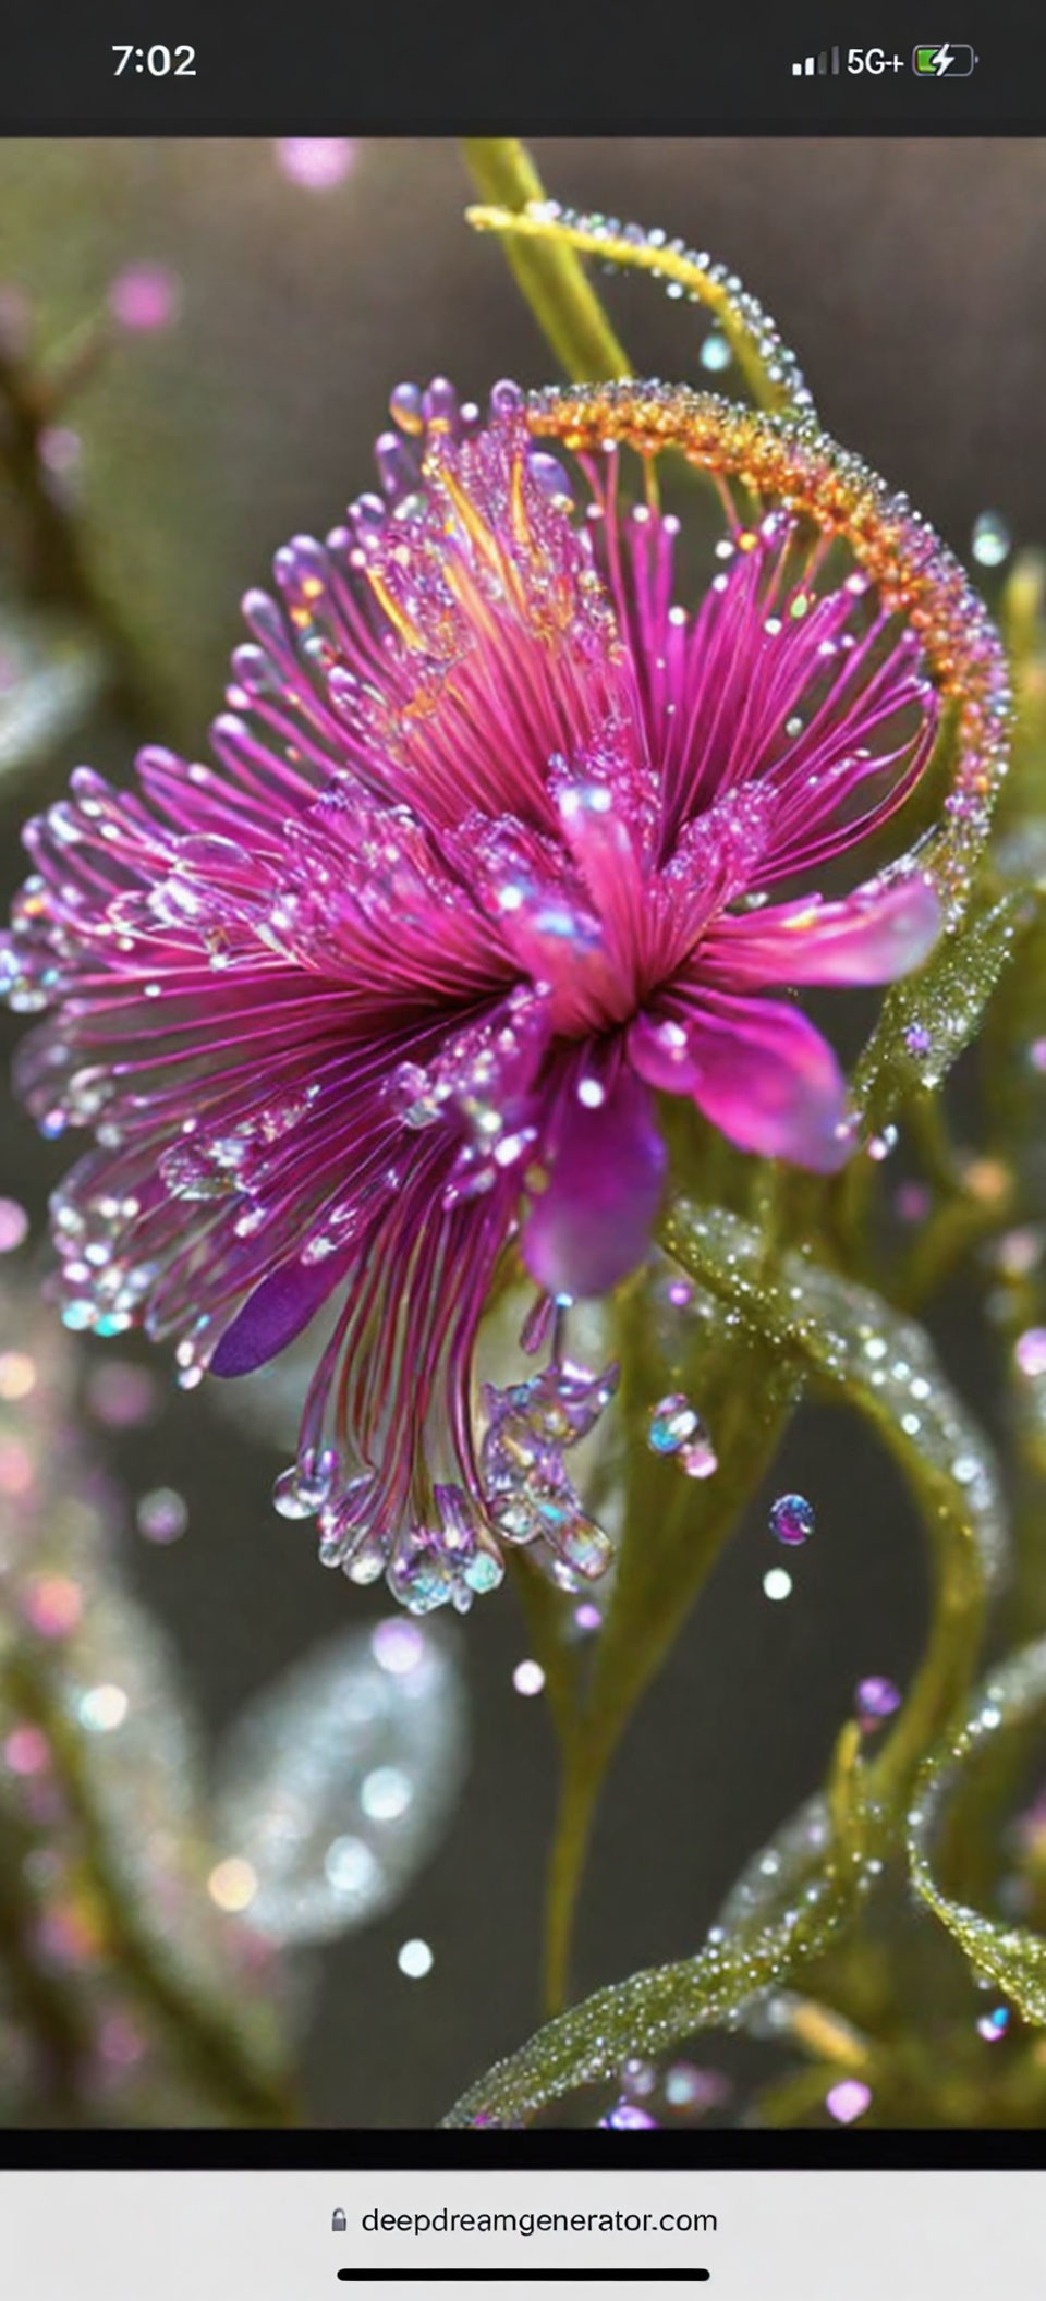
<svg viewBox="0 0 1046 2301">
<path fill-rule="evenodd" d="M 915 1891 L 968 1956 L 977 1981 L 991 1981 L 1030 2023 L 1046 2023 L 1046 1940 L 1028 1926 L 984 1917 L 954 1901 L 933 1871 L 933 1838 L 943 1806 L 963 1786 L 970 1765 L 993 1749 L 1000 1733 L 1030 1726 L 1046 1710 L 1046 1638 L 1000 1664 L 920 1767 L 908 1813 L 908 1857 Z"/>
</svg>

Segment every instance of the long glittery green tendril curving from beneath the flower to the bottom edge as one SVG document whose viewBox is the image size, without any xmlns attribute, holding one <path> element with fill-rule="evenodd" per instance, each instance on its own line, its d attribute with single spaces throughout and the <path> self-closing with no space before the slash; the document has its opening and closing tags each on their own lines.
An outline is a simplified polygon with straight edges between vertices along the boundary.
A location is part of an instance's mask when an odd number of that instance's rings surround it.
<svg viewBox="0 0 1046 2301">
<path fill-rule="evenodd" d="M 471 2087 L 448 2124 L 520 2122 L 614 2076 L 632 2052 L 733 2025 L 839 1937 L 901 1843 L 915 1769 L 963 1700 L 1005 1558 L 991 1452 L 920 1325 L 805 1254 L 772 1261 L 763 1236 L 722 1208 L 676 1206 L 664 1245 L 738 1335 L 759 1335 L 782 1369 L 857 1408 L 899 1459 L 933 1551 L 926 1654 L 880 1756 L 864 1767 L 853 1723 L 844 1728 L 825 1795 L 745 1871 L 694 1958 L 598 1990 L 549 2023 Z"/>
</svg>

